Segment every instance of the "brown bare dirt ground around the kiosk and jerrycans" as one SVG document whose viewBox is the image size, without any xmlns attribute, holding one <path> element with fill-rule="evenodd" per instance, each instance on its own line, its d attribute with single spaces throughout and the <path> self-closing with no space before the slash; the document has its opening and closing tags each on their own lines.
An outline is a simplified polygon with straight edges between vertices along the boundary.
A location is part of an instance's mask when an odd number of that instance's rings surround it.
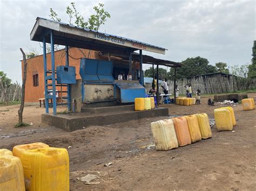
<svg viewBox="0 0 256 191">
<path fill-rule="evenodd" d="M 256 94 L 248 94 L 256 97 Z M 220 106 L 188 107 L 174 104 L 169 115 L 206 112 L 210 118 Z M 70 157 L 70 189 L 140 190 L 255 190 L 256 189 L 256 110 L 233 107 L 237 126 L 234 131 L 218 132 L 212 138 L 170 151 L 156 151 L 150 123 L 167 117 L 144 118 L 105 126 L 90 126 L 65 132 L 41 123 L 44 108 L 25 107 L 24 122 L 33 125 L 14 128 L 19 105 L 0 107 L 0 148 L 43 142 L 65 147 Z M 64 111 L 65 108 L 58 108 Z M 104 166 L 112 162 L 110 166 Z M 86 174 L 99 177 L 97 185 L 77 180 Z"/>
</svg>

